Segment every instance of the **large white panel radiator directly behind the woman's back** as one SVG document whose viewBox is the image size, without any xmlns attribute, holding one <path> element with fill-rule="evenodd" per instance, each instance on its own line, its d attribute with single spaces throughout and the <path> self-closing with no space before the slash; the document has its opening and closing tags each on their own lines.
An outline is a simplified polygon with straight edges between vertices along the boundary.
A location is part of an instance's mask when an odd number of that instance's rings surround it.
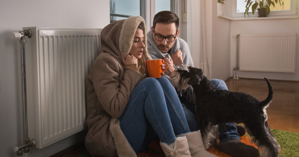
<svg viewBox="0 0 299 157">
<path fill-rule="evenodd" d="M 43 148 L 86 128 L 86 77 L 102 29 L 25 29 L 28 136 Z"/>
</svg>

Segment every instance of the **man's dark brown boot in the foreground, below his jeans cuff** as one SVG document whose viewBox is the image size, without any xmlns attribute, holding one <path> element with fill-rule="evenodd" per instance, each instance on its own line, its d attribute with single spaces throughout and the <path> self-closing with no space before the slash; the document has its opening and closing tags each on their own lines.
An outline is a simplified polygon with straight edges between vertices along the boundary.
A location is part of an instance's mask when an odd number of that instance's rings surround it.
<svg viewBox="0 0 299 157">
<path fill-rule="evenodd" d="M 240 140 L 235 139 L 231 141 L 221 142 L 217 146 L 219 151 L 222 151 L 232 157 L 258 157 L 260 156 L 259 150 L 256 148 L 242 143 Z"/>
</svg>

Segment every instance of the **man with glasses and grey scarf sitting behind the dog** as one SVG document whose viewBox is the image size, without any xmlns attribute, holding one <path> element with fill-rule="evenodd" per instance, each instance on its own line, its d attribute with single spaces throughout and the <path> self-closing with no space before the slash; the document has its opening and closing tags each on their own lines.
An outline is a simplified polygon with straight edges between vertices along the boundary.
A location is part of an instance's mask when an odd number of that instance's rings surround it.
<svg viewBox="0 0 299 157">
<path fill-rule="evenodd" d="M 182 65 L 193 66 L 192 57 L 187 43 L 178 37 L 179 18 L 170 11 L 161 11 L 154 16 L 153 26 L 147 33 L 148 53 L 152 59 L 163 59 L 168 63 L 168 68 L 164 71 L 165 75 L 170 75 L 176 68 Z M 168 77 L 165 76 L 165 77 Z M 228 90 L 223 80 L 212 79 L 212 84 L 223 90 Z M 179 96 L 191 131 L 197 130 L 197 122 L 194 116 L 194 96 L 193 89 L 187 89 Z M 244 127 L 237 125 L 239 134 L 244 135 Z M 233 157 L 237 156 L 259 156 L 259 151 L 240 141 L 234 123 L 225 124 L 220 127 L 218 150 L 225 152 Z"/>
</svg>

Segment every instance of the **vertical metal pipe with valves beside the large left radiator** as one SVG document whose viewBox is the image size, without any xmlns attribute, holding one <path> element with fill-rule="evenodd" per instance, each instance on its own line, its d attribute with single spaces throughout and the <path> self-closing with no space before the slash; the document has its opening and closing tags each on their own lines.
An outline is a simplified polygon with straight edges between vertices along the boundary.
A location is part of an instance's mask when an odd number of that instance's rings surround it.
<svg viewBox="0 0 299 157">
<path fill-rule="evenodd" d="M 26 62 L 25 62 L 25 36 L 31 37 L 31 30 L 20 31 L 13 33 L 13 39 L 20 39 L 22 44 L 22 67 L 23 67 L 23 105 L 24 105 L 24 144 L 19 147 L 14 147 L 13 150 L 17 156 L 22 156 L 23 152 L 28 153 L 29 147 L 35 145 L 35 140 L 28 137 L 28 119 L 27 119 L 27 88 L 26 88 Z"/>
</svg>

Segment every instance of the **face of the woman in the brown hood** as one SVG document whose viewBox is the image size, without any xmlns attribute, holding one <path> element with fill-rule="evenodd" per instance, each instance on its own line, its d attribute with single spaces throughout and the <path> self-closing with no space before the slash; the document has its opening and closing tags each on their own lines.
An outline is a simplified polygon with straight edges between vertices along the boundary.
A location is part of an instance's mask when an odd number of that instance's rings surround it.
<svg viewBox="0 0 299 157">
<path fill-rule="evenodd" d="M 142 29 L 137 28 L 129 55 L 133 55 L 137 59 L 140 59 L 142 57 L 143 48 L 145 47 L 143 42 L 144 42 L 143 31 Z"/>
</svg>

